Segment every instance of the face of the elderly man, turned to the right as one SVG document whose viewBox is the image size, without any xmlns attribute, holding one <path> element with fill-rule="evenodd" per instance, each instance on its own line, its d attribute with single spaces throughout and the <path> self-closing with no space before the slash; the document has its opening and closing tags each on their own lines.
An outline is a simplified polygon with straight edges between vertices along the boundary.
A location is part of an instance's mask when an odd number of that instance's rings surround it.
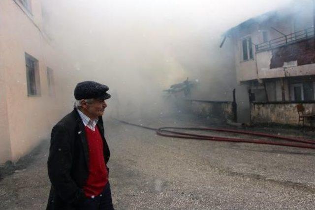
<svg viewBox="0 0 315 210">
<path fill-rule="evenodd" d="M 85 109 L 87 114 L 89 114 L 91 119 L 96 119 L 104 114 L 104 110 L 107 107 L 105 100 L 103 99 L 93 99 L 92 103 L 83 103 L 82 107 Z"/>
</svg>

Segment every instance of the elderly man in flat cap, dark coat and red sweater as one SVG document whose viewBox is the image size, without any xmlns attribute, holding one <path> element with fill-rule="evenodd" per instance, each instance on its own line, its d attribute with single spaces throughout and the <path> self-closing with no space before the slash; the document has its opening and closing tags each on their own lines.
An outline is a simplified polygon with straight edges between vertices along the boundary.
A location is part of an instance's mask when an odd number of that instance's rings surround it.
<svg viewBox="0 0 315 210">
<path fill-rule="evenodd" d="M 109 149 L 102 115 L 108 87 L 78 83 L 74 110 L 51 133 L 48 176 L 52 183 L 48 210 L 113 210 L 108 182 Z"/>
</svg>

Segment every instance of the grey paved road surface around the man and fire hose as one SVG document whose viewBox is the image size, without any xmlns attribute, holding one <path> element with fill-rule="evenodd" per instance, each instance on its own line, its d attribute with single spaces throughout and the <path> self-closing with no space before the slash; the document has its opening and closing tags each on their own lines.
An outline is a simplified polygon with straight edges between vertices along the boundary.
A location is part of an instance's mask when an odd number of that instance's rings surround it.
<svg viewBox="0 0 315 210">
<path fill-rule="evenodd" d="M 220 125 L 189 116 L 132 121 L 153 127 Z M 315 150 L 171 139 L 114 120 L 107 120 L 105 132 L 118 210 L 315 209 Z M 47 149 L 44 142 L 31 164 L 0 181 L 1 210 L 45 208 Z"/>
</svg>

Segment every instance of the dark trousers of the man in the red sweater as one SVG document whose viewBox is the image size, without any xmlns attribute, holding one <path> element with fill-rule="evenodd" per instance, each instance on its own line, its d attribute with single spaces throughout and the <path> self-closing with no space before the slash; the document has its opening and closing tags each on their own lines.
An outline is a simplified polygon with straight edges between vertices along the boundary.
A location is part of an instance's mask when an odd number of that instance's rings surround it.
<svg viewBox="0 0 315 210">
<path fill-rule="evenodd" d="M 80 210 L 114 210 L 109 182 L 100 195 L 87 199 Z"/>
</svg>

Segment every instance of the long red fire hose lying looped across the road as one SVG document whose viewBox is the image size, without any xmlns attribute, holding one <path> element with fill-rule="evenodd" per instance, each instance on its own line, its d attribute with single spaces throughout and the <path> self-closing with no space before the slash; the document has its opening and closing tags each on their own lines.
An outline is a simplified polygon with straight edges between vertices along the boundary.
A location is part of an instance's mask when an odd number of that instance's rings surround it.
<svg viewBox="0 0 315 210">
<path fill-rule="evenodd" d="M 223 141 L 223 142 L 239 142 L 239 143 L 253 143 L 253 144 L 264 144 L 264 145 L 276 145 L 276 146 L 285 146 L 285 147 L 295 147 L 295 148 L 307 148 L 315 149 L 315 141 L 311 139 L 299 138 L 299 137 L 288 137 L 281 135 L 274 135 L 262 132 L 253 132 L 245 130 L 236 130 L 236 129 L 225 129 L 225 128 L 211 128 L 211 127 L 160 127 L 153 128 L 144 125 L 134 124 L 126 122 L 124 120 L 117 120 L 121 123 L 125 123 L 132 126 L 137 126 L 149 130 L 156 131 L 157 135 L 171 137 L 171 138 L 182 138 L 182 139 L 197 139 L 197 140 L 208 140 L 208 141 Z M 231 137 L 221 137 L 221 136 L 212 136 L 212 135 L 202 135 L 202 134 L 193 134 L 187 132 L 178 132 L 174 130 L 195 130 L 195 131 L 217 131 L 217 132 L 227 132 L 227 133 L 236 133 L 236 134 L 245 134 L 251 136 L 267 137 L 278 140 L 285 140 L 287 142 L 271 142 L 266 140 L 258 139 L 244 139 L 244 138 L 231 138 Z"/>
</svg>

